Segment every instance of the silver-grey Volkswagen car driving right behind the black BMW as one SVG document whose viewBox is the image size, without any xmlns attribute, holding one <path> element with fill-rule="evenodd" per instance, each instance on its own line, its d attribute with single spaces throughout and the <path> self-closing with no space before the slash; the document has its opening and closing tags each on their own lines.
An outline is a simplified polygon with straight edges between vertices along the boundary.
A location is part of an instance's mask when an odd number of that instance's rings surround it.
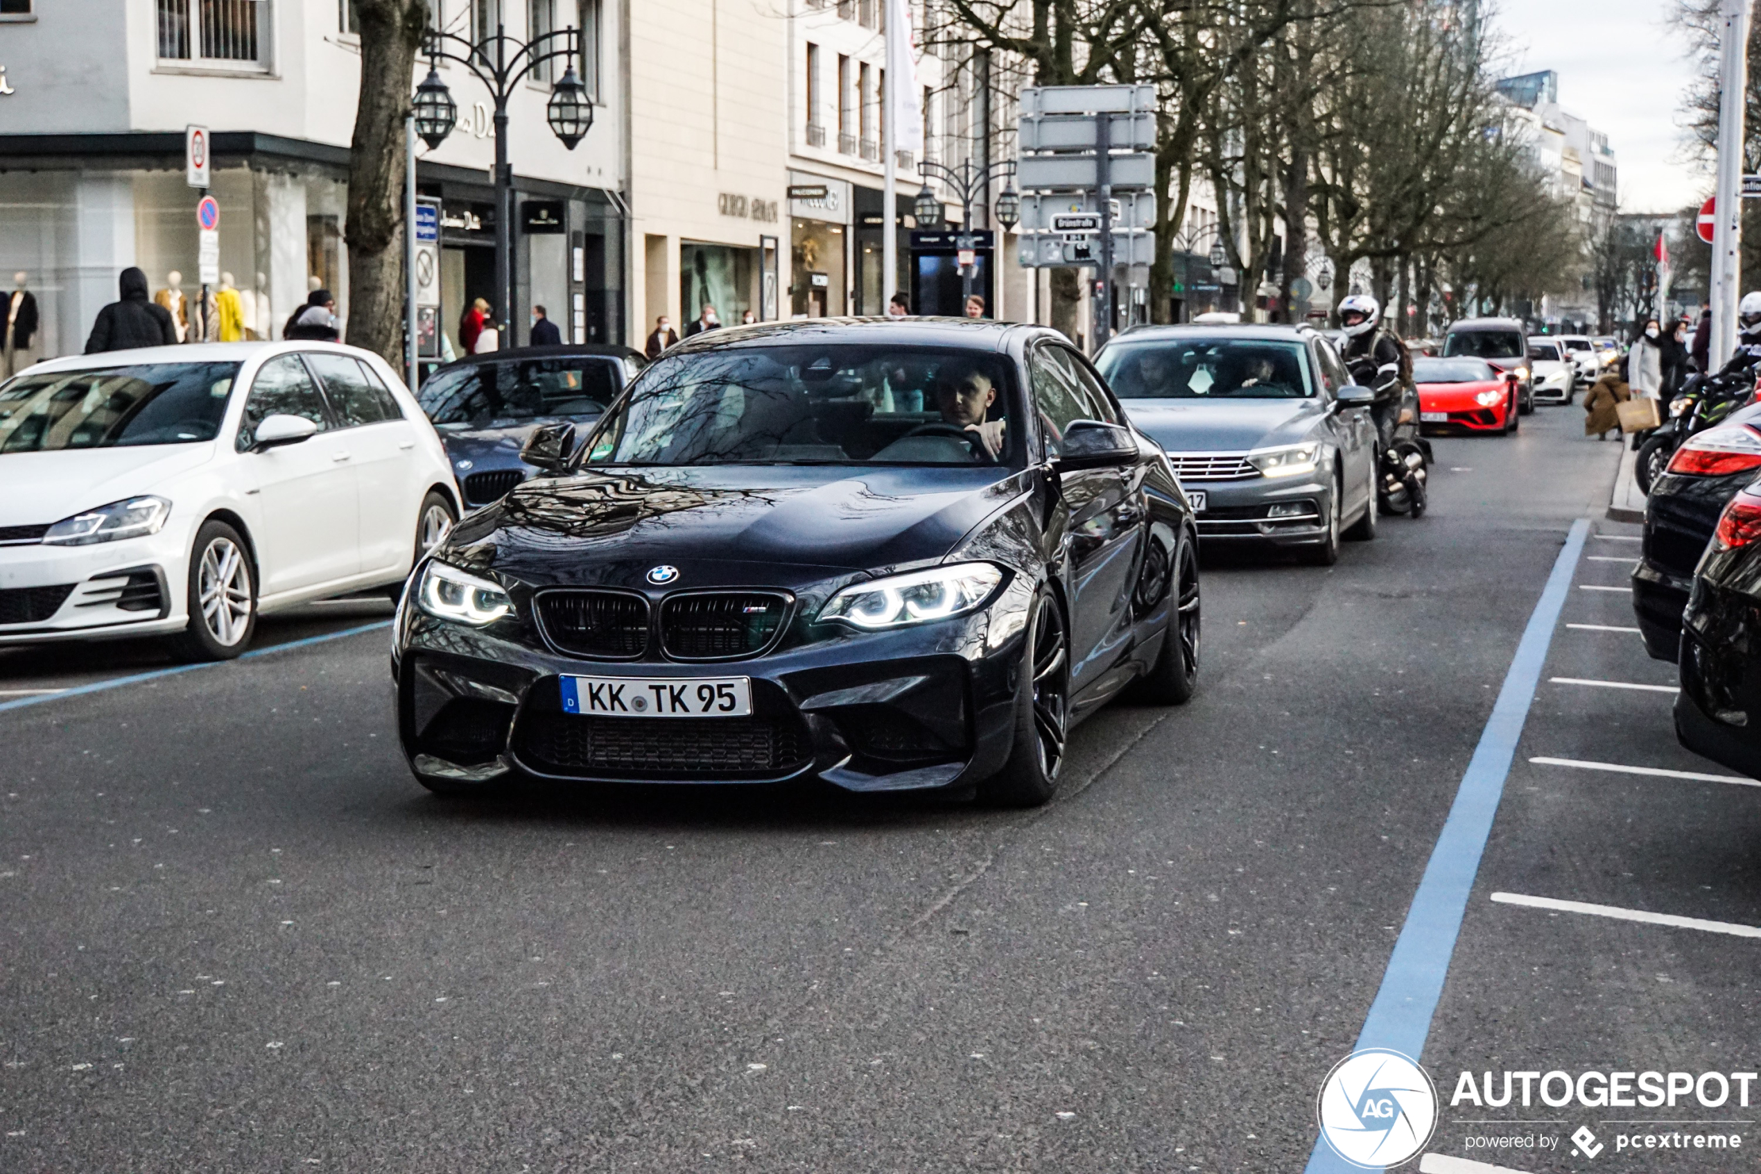
<svg viewBox="0 0 1761 1174">
<path fill-rule="evenodd" d="M 1293 326 L 1150 326 L 1095 359 L 1125 414 L 1168 452 L 1213 546 L 1338 558 L 1375 537 L 1375 424 L 1321 334 Z"/>
</svg>

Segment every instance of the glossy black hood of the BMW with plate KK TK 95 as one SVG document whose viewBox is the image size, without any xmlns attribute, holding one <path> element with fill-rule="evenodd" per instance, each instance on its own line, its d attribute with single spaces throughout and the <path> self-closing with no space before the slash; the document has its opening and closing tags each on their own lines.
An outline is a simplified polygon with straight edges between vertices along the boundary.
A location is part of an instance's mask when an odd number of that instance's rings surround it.
<svg viewBox="0 0 1761 1174">
<path fill-rule="evenodd" d="M 785 569 L 939 560 L 1023 486 L 993 466 L 608 468 L 525 482 L 465 517 L 446 558 L 534 584 L 641 586 L 671 565 L 689 588 L 727 583 L 733 563 L 785 584 Z"/>
</svg>

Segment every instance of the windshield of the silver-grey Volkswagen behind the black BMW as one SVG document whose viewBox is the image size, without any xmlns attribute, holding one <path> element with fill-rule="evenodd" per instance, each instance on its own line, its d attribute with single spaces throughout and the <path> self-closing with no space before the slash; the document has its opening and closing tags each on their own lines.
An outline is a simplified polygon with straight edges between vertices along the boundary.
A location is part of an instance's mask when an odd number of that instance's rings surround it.
<svg viewBox="0 0 1761 1174">
<path fill-rule="evenodd" d="M 1300 341 L 1159 338 L 1120 343 L 1097 363 L 1122 400 L 1307 400 L 1315 394 Z"/>
</svg>

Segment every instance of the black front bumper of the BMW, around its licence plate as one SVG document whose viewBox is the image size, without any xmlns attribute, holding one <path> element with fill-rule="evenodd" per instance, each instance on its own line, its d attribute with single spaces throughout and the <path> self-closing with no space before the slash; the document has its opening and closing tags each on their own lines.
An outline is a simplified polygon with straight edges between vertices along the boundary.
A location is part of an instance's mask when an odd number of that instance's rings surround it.
<svg viewBox="0 0 1761 1174">
<path fill-rule="evenodd" d="M 785 641 L 748 660 L 593 662 L 518 632 L 398 616 L 398 730 L 410 769 L 447 783 L 523 774 L 588 783 L 780 783 L 921 790 L 986 778 L 1014 736 L 1032 586 L 896 632 Z M 518 625 L 514 625 L 518 627 Z M 745 676 L 750 718 L 564 713 L 562 674 L 637 681 Z"/>
</svg>

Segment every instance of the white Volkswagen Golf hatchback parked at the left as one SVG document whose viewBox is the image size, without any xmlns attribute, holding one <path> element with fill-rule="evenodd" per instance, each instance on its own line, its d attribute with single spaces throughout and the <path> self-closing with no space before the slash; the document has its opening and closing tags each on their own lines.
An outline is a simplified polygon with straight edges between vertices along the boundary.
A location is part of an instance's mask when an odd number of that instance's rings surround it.
<svg viewBox="0 0 1761 1174">
<path fill-rule="evenodd" d="M 171 635 L 394 595 L 458 517 L 433 426 L 375 354 L 199 343 L 55 359 L 0 384 L 0 644 Z"/>
</svg>

